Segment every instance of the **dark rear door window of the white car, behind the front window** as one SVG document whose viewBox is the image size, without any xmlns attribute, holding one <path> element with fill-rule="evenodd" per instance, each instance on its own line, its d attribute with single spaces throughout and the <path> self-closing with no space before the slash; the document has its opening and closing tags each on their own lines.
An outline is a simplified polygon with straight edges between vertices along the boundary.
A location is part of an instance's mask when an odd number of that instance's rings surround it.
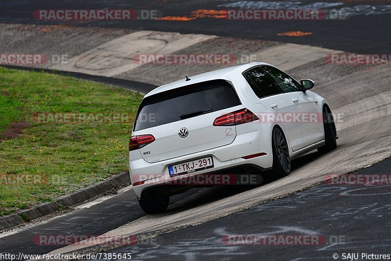
<svg viewBox="0 0 391 261">
<path fill-rule="evenodd" d="M 266 75 L 260 66 L 244 72 L 243 76 L 259 98 L 281 92 L 279 87 L 277 87 L 273 80 Z"/>
</svg>

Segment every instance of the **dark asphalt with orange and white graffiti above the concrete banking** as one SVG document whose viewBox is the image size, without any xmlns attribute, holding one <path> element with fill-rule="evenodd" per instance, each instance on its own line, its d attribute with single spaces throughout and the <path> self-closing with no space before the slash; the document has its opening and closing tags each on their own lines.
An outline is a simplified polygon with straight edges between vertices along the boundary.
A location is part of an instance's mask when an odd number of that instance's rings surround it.
<svg viewBox="0 0 391 261">
<path fill-rule="evenodd" d="M 0 22 L 73 24 L 119 27 L 142 30 L 203 33 L 287 43 L 309 44 L 356 53 L 390 53 L 391 1 L 241 1 L 236 0 L 1 0 Z M 157 9 L 163 16 L 186 16 L 199 9 L 323 9 L 343 10 L 349 19 L 321 21 L 227 21 L 207 16 L 182 21 L 41 21 L 33 18 L 36 9 Z M 211 26 L 213 24 L 213 26 Z M 279 33 L 302 31 L 302 37 L 279 36 Z"/>
</svg>

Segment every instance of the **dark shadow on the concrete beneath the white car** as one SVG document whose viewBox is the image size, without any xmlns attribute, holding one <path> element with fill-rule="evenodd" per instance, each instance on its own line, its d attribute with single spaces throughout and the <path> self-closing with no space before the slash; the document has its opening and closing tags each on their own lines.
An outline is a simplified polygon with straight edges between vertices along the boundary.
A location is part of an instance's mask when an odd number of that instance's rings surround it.
<svg viewBox="0 0 391 261">
<path fill-rule="evenodd" d="M 315 159 L 323 156 L 316 151 L 309 152 L 298 159 L 291 161 L 291 172 L 311 164 Z M 249 191 L 271 182 L 278 182 L 279 178 L 276 178 L 273 170 L 258 173 L 262 176 L 262 182 L 259 185 L 225 185 L 225 186 L 214 186 L 209 188 L 193 188 L 183 194 L 174 195 L 171 197 L 170 206 L 166 212 L 181 212 L 187 209 L 191 209 L 197 206 L 211 203 L 228 196 L 233 196 L 245 191 Z"/>
</svg>

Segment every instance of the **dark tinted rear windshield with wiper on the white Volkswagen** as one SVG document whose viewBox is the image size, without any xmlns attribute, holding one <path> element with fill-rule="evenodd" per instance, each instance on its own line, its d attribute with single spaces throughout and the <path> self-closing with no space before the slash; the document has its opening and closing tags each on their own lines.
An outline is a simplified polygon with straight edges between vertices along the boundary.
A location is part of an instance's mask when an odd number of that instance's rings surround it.
<svg viewBox="0 0 391 261">
<path fill-rule="evenodd" d="M 202 82 L 145 98 L 134 131 L 180 121 L 240 105 L 232 85 L 224 80 Z"/>
</svg>

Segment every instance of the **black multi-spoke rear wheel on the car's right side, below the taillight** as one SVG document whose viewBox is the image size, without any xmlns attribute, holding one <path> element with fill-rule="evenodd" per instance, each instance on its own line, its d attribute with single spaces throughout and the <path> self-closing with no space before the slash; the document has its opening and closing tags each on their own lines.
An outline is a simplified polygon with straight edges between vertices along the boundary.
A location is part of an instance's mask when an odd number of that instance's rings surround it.
<svg viewBox="0 0 391 261">
<path fill-rule="evenodd" d="M 284 133 L 279 128 L 274 128 L 272 133 L 273 173 L 277 177 L 283 177 L 290 172 L 290 157 L 288 143 Z"/>
</svg>

